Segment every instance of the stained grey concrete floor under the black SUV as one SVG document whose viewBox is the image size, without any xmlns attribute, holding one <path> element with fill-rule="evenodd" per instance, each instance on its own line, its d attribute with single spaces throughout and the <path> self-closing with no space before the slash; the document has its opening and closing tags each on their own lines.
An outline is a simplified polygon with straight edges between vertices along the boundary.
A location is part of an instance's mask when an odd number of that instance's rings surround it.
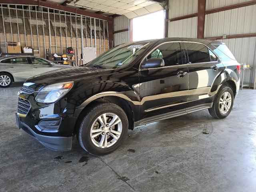
<svg viewBox="0 0 256 192">
<path fill-rule="evenodd" d="M 139 126 L 101 157 L 77 140 L 51 151 L 18 130 L 18 90 L 0 88 L 1 192 L 256 191 L 256 90 L 240 91 L 224 120 L 204 110 Z"/>
</svg>

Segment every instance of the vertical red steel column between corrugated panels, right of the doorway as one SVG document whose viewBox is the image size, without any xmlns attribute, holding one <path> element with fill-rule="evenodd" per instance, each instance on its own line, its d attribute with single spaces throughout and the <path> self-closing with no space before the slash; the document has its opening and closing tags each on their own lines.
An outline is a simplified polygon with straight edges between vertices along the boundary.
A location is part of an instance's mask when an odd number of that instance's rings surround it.
<svg viewBox="0 0 256 192">
<path fill-rule="evenodd" d="M 198 16 L 197 16 L 197 38 L 204 38 L 204 19 L 205 19 L 206 0 L 198 0 Z"/>
</svg>

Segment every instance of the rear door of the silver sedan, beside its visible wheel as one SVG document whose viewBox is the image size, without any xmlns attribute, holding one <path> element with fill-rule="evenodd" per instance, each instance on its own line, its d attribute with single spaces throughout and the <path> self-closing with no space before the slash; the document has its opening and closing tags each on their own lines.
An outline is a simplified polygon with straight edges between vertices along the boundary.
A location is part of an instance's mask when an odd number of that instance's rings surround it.
<svg viewBox="0 0 256 192">
<path fill-rule="evenodd" d="M 2 60 L 8 71 L 12 73 L 16 81 L 25 81 L 32 77 L 32 65 L 28 62 L 28 57 L 14 57 Z"/>
</svg>

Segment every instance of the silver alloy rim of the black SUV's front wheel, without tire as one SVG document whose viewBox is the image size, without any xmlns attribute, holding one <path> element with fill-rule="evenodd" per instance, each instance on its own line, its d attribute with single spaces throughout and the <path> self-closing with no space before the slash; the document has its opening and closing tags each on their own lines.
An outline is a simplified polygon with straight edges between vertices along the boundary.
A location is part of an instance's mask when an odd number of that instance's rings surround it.
<svg viewBox="0 0 256 192">
<path fill-rule="evenodd" d="M 121 133 L 121 119 L 114 113 L 104 113 L 93 122 L 90 138 L 97 147 L 108 148 L 117 142 Z"/>
</svg>

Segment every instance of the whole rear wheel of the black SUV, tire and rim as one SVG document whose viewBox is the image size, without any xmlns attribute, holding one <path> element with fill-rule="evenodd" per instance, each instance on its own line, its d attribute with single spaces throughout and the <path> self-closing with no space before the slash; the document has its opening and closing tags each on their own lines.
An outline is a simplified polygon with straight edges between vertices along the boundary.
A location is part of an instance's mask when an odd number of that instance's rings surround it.
<svg viewBox="0 0 256 192">
<path fill-rule="evenodd" d="M 212 108 L 208 111 L 214 118 L 226 118 L 233 108 L 233 103 L 232 89 L 228 86 L 222 86 L 214 99 Z"/>
</svg>

